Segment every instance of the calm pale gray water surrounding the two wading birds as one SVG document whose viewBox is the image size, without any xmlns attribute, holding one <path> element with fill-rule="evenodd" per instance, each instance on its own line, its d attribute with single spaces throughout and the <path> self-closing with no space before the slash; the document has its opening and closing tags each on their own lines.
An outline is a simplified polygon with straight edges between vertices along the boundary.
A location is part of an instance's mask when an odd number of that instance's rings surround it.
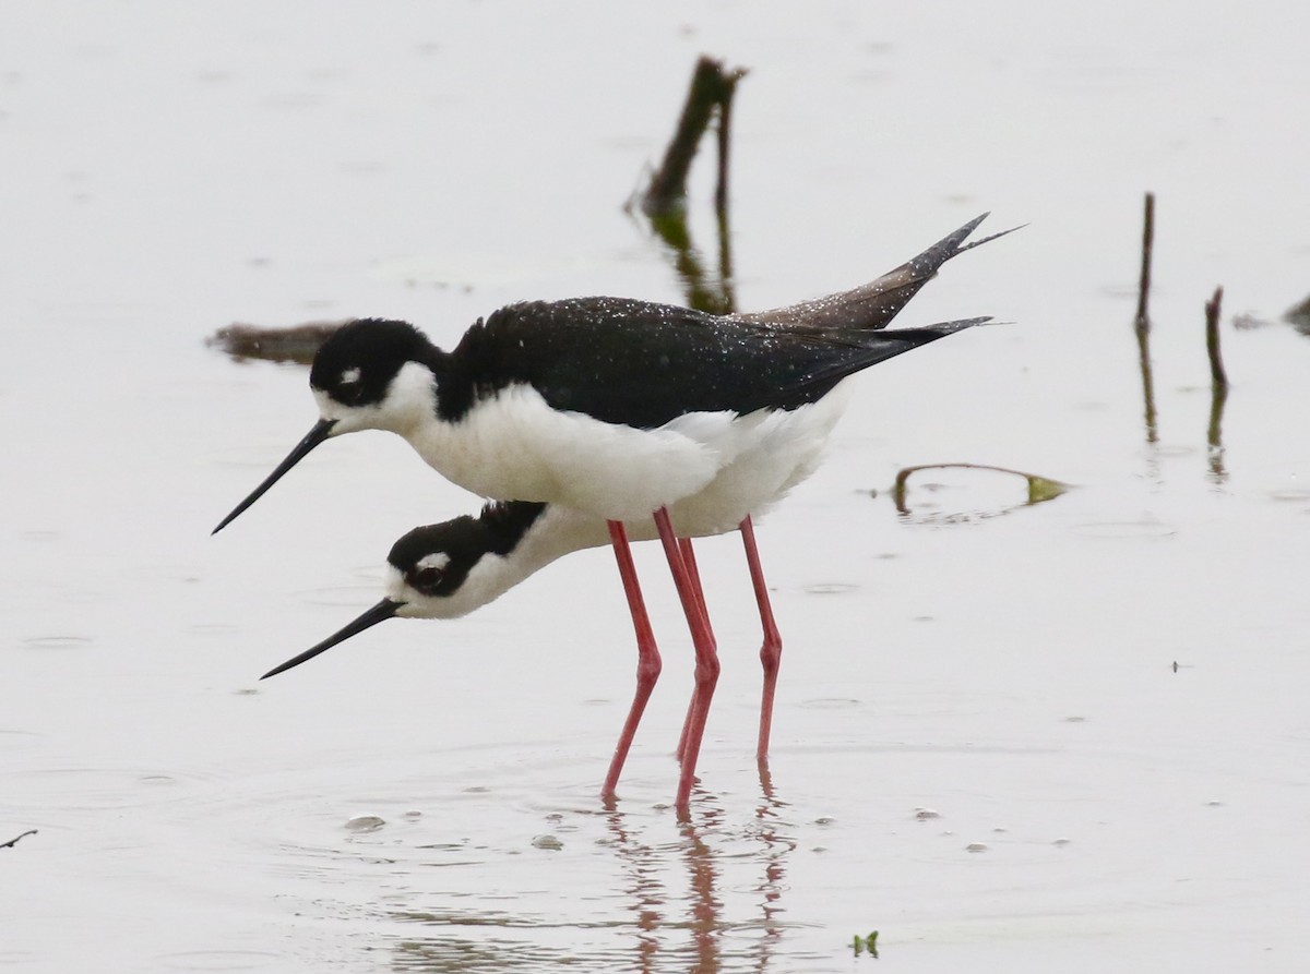
<svg viewBox="0 0 1310 974">
<path fill-rule="evenodd" d="M 1310 14 L 1013 3 L 10 7 L 0 30 L 0 967 L 1293 971 L 1310 910 Z M 984 209 L 905 325 L 1013 322 L 861 380 L 760 529 L 786 639 L 772 780 L 735 537 L 689 826 L 690 647 L 617 810 L 631 689 L 601 550 L 457 622 L 269 666 L 477 501 L 398 440 L 320 449 L 231 322 L 680 300 L 620 204 L 696 56 L 735 114 L 743 309 L 867 280 Z M 693 232 L 713 250 L 709 165 Z M 1144 422 L 1132 331 L 1158 194 Z M 1203 302 L 1225 287 L 1222 449 Z M 1238 330 L 1234 317 L 1267 322 Z M 994 463 L 1077 488 L 901 466 Z M 871 495 L 876 491 L 876 496 Z M 880 931 L 882 960 L 852 937 Z"/>
</svg>

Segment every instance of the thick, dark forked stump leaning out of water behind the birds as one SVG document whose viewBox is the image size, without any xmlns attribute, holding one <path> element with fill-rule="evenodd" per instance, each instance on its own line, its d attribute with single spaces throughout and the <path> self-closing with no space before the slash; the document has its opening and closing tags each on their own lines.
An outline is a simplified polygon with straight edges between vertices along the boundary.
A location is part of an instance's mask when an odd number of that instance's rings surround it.
<svg viewBox="0 0 1310 974">
<path fill-rule="evenodd" d="M 651 177 L 650 187 L 642 194 L 643 212 L 655 216 L 685 206 L 686 174 L 715 110 L 719 114 L 719 179 L 715 206 L 720 211 L 727 208 L 728 120 L 732 113 L 732 94 L 745 73 L 745 68 L 726 69 L 723 62 L 713 58 L 702 56 L 697 62 L 677 130 L 664 152 L 663 162 Z"/>
</svg>

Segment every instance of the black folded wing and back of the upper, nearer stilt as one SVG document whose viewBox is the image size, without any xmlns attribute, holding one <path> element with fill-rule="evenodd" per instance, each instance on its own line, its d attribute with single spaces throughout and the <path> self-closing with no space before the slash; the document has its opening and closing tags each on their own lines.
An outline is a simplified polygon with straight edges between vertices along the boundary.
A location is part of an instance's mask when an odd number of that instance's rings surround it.
<svg viewBox="0 0 1310 974">
<path fill-rule="evenodd" d="M 439 411 L 456 420 L 515 382 L 553 408 L 645 429 L 686 412 L 790 410 L 971 323 L 815 335 L 626 298 L 519 304 L 465 333 L 439 378 Z"/>
</svg>

